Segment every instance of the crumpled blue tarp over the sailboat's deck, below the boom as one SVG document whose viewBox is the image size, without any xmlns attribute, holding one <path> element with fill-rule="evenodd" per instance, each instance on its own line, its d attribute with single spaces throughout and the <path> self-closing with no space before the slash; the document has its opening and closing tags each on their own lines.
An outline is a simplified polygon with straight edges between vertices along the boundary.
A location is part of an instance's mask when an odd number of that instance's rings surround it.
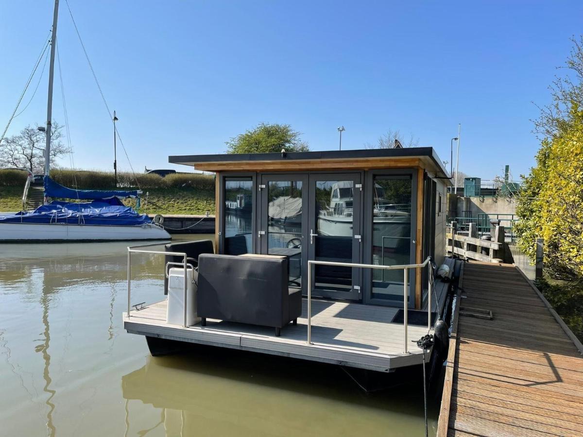
<svg viewBox="0 0 583 437">
<path fill-rule="evenodd" d="M 93 200 L 87 203 L 59 202 L 39 206 L 31 212 L 22 211 L 0 216 L 0 223 L 66 223 L 110 226 L 140 226 L 151 223 L 146 214 L 138 214 L 120 200 Z"/>
</svg>

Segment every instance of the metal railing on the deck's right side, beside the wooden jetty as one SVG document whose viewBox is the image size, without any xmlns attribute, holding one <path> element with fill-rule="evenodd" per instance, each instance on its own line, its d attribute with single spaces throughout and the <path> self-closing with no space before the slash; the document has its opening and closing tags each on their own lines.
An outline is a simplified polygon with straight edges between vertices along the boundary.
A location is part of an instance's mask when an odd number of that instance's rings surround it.
<svg viewBox="0 0 583 437">
<path fill-rule="evenodd" d="M 427 329 L 431 329 L 431 286 L 433 286 L 433 266 L 431 266 L 431 256 L 428 256 L 421 264 L 406 264 L 400 266 L 380 266 L 375 264 L 357 264 L 357 263 L 342 263 L 333 261 L 315 261 L 308 260 L 308 344 L 312 343 L 312 266 L 338 266 L 338 267 L 357 267 L 360 269 L 381 269 L 381 270 L 400 270 L 403 269 L 403 326 L 405 333 L 403 335 L 403 353 L 408 353 L 408 321 L 407 310 L 409 303 L 409 287 L 407 284 L 407 276 L 409 269 L 423 269 L 429 266 L 429 287 L 427 293 Z"/>
</svg>

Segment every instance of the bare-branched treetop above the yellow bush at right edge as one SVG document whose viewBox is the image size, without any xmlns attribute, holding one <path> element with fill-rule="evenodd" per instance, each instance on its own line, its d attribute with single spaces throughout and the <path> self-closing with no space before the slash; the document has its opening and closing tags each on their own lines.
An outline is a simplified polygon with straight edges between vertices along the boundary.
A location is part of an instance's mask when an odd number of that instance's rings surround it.
<svg viewBox="0 0 583 437">
<path fill-rule="evenodd" d="M 552 101 L 543 107 L 539 106 L 540 117 L 533 120 L 535 133 L 543 138 L 553 138 L 559 132 L 568 129 L 571 124 L 572 104 L 583 108 L 583 35 L 571 38 L 573 49 L 564 66 L 567 75 L 555 77 L 549 86 Z M 569 76 L 571 73 L 572 76 Z"/>
</svg>

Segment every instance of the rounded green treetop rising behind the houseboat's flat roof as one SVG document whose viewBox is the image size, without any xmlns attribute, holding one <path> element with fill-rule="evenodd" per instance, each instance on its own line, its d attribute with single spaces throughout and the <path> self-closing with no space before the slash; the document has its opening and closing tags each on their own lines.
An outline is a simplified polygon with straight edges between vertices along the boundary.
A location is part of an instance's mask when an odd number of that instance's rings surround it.
<svg viewBox="0 0 583 437">
<path fill-rule="evenodd" d="M 282 149 L 287 152 L 309 151 L 308 143 L 302 141 L 300 135 L 290 125 L 261 123 L 225 144 L 227 153 L 279 153 Z"/>
</svg>

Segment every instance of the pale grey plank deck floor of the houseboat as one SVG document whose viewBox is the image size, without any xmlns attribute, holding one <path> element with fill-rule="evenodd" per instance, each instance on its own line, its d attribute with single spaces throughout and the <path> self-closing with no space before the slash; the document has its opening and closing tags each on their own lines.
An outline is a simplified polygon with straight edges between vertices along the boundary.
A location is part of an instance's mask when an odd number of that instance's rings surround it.
<svg viewBox="0 0 583 437">
<path fill-rule="evenodd" d="M 297 326 L 275 329 L 243 323 L 208 319 L 200 324 L 182 327 L 166 323 L 166 300 L 124 313 L 124 328 L 129 333 L 161 337 L 169 340 L 210 344 L 259 353 L 285 355 L 304 360 L 340 364 L 375 371 L 422 362 L 422 350 L 415 341 L 427 334 L 427 326 L 409 325 L 408 353 L 403 353 L 403 323 L 391 323 L 397 308 L 350 304 L 312 299 L 312 343 L 307 344 L 307 302 Z M 429 359 L 429 351 L 426 359 Z"/>
</svg>

